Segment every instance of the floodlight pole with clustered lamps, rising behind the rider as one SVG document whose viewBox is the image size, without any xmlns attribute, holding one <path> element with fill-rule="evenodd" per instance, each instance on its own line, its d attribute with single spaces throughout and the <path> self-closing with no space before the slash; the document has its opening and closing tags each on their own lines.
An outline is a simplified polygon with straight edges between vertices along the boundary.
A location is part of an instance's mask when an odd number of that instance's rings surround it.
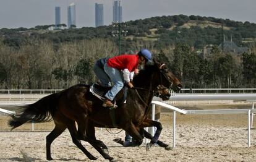
<svg viewBox="0 0 256 162">
<path fill-rule="evenodd" d="M 121 36 L 126 36 L 127 30 L 121 30 L 122 27 L 125 27 L 126 25 L 124 23 L 120 22 L 113 22 L 112 26 L 114 27 L 112 31 L 113 36 L 118 36 L 118 54 L 121 54 Z"/>
</svg>

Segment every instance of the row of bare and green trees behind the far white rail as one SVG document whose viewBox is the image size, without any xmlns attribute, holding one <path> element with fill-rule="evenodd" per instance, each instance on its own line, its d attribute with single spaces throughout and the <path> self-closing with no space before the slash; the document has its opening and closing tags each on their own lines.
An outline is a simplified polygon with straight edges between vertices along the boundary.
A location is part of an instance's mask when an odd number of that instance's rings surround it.
<svg viewBox="0 0 256 162">
<path fill-rule="evenodd" d="M 177 43 L 161 50 L 152 41 L 131 43 L 133 51 L 147 48 L 153 58 L 168 64 L 184 88 L 254 88 L 256 83 L 256 46 L 252 53 L 222 53 L 217 46 L 203 58 L 189 45 Z M 96 81 L 96 59 L 116 56 L 113 40 L 92 39 L 62 43 L 30 40 L 18 49 L 0 43 L 1 89 L 68 88 L 77 83 Z"/>
</svg>

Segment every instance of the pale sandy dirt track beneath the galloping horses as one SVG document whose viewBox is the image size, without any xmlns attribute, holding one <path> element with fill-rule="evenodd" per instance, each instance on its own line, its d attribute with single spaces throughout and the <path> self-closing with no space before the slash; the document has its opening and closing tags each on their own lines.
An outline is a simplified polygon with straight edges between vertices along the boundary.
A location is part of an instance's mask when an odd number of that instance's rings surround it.
<svg viewBox="0 0 256 162">
<path fill-rule="evenodd" d="M 175 103 L 182 109 L 228 109 L 251 108 L 249 103 L 198 104 Z M 164 150 L 154 146 L 149 151 L 145 143 L 140 147 L 124 148 L 113 142 L 117 137 L 124 138 L 124 131 L 119 134 L 109 134 L 106 129 L 97 129 L 96 137 L 105 142 L 109 155 L 119 161 L 256 161 L 256 130 L 251 130 L 251 147 L 247 147 L 247 114 L 218 115 L 176 115 L 176 148 Z M 53 129 L 53 122 L 32 124 L 20 127 L 22 132 L 9 132 L 7 116 L 0 117 L 0 161 L 46 161 L 46 132 L 37 130 Z M 160 122 L 163 130 L 160 140 L 173 145 L 173 113 L 161 113 Z M 254 120 L 254 126 L 256 127 Z M 113 129 L 117 133 L 119 130 Z M 97 161 L 107 161 L 87 142 L 82 142 Z M 65 131 L 51 145 L 53 161 L 89 161 L 75 147 L 69 132 Z"/>
</svg>

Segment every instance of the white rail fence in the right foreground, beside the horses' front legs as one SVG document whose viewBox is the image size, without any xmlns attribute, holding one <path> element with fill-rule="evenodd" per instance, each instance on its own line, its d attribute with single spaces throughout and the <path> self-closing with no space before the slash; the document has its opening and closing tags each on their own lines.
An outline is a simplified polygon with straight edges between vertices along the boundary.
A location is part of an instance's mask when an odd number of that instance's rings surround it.
<svg viewBox="0 0 256 162">
<path fill-rule="evenodd" d="M 250 129 L 252 128 L 254 102 L 256 101 L 256 94 L 250 95 L 176 95 L 171 96 L 171 101 L 202 101 L 202 100 L 247 100 L 252 102 L 250 109 L 203 109 L 203 110 L 184 110 L 179 109 L 161 101 L 152 101 L 152 120 L 155 114 L 155 104 L 166 109 L 173 110 L 173 148 L 176 147 L 176 112 L 181 114 L 248 114 L 248 147 L 250 147 Z"/>
</svg>

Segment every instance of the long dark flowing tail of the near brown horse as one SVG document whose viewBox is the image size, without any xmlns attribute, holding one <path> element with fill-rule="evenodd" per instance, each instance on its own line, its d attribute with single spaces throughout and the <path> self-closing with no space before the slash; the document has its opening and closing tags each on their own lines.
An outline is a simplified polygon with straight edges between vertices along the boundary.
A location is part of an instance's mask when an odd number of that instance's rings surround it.
<svg viewBox="0 0 256 162">
<path fill-rule="evenodd" d="M 26 122 L 51 121 L 51 114 L 57 108 L 59 93 L 45 96 L 33 104 L 20 106 L 18 111 L 11 116 L 9 126 L 11 126 L 12 129 L 15 129 Z"/>
</svg>

